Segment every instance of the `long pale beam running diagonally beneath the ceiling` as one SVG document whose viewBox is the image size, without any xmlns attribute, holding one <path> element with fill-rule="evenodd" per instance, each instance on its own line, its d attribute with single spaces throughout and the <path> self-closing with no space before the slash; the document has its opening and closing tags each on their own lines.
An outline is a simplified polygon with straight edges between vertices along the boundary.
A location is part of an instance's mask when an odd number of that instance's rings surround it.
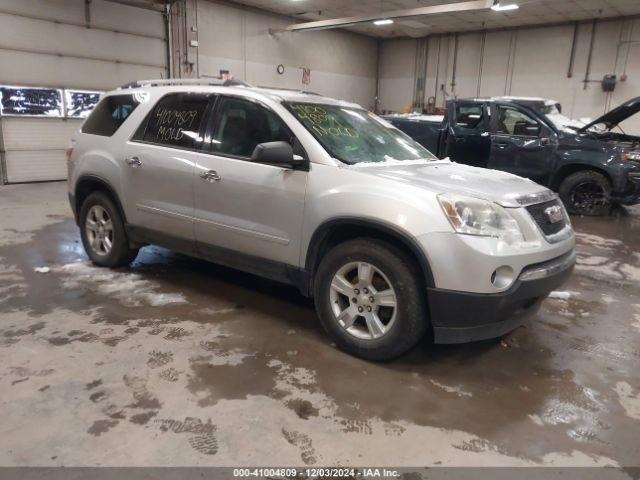
<svg viewBox="0 0 640 480">
<path fill-rule="evenodd" d="M 409 8 L 406 10 L 391 10 L 373 15 L 359 15 L 356 17 L 334 18 L 316 22 L 294 23 L 282 29 L 271 29 L 271 33 L 299 32 L 305 30 L 326 30 L 329 28 L 349 27 L 359 23 L 369 23 L 380 19 L 396 19 L 405 17 L 420 17 L 442 13 L 466 12 L 469 10 L 486 10 L 496 3 L 495 0 L 472 0 L 468 2 L 433 5 L 431 7 Z"/>
</svg>

